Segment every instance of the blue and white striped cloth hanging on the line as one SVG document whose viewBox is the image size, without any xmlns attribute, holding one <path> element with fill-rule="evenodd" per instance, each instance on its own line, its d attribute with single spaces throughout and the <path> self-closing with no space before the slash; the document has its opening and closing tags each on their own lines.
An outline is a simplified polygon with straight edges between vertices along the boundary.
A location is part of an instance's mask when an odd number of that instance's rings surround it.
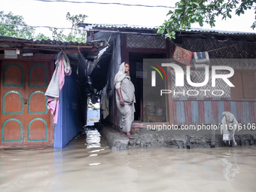
<svg viewBox="0 0 256 192">
<path fill-rule="evenodd" d="M 196 70 L 205 70 L 206 66 L 209 66 L 209 54 L 207 51 L 204 52 L 194 52 L 194 66 Z"/>
</svg>

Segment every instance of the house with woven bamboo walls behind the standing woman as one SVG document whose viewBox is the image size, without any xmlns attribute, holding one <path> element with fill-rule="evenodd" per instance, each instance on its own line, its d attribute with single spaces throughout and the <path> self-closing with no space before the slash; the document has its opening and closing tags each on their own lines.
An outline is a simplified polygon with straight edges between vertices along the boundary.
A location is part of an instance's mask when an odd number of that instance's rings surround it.
<svg viewBox="0 0 256 192">
<path fill-rule="evenodd" d="M 109 63 L 110 66 L 108 74 L 105 73 L 105 78 L 108 78 L 105 90 L 108 92 L 109 103 L 109 114 L 105 117 L 105 121 L 112 126 L 120 126 L 113 82 L 121 62 L 130 63 L 130 76 L 136 87 L 136 113 L 132 130 L 160 123 L 177 126 L 218 124 L 221 123 L 223 111 L 233 113 L 239 123 L 251 123 L 250 125 L 256 123 L 256 35 L 254 33 L 190 29 L 177 32 L 176 38 L 170 41 L 157 34 L 157 27 L 97 23 L 81 23 L 80 26 L 90 35 L 88 39 L 105 40 L 111 45 L 105 52 L 105 59 L 102 62 Z M 172 93 L 160 96 L 159 90 L 158 93 L 151 90 L 151 93 L 146 94 L 144 88 L 148 85 L 147 78 L 139 75 L 143 71 L 146 72 L 148 82 L 151 82 L 151 71 L 142 69 L 145 59 L 165 59 L 180 66 L 185 74 L 186 66 L 172 57 L 176 46 L 191 52 L 208 51 L 209 70 L 212 71 L 212 66 L 229 66 L 234 70 L 234 75 L 229 81 L 235 87 L 230 87 L 221 79 L 217 79 L 216 87 L 212 87 L 211 74 L 210 81 L 203 86 L 203 90 L 207 91 L 200 91 L 202 87 L 191 87 L 186 81 L 183 87 L 176 87 L 175 71 L 167 66 L 163 67 L 166 79 L 162 89 L 172 90 Z M 221 69 L 216 72 L 216 74 L 228 73 L 227 70 Z M 191 61 L 191 81 L 200 83 L 205 78 L 205 71 L 197 70 Z M 160 82 L 160 79 L 160 75 L 157 75 L 157 82 Z M 148 89 L 151 88 L 149 85 Z M 173 95 L 173 90 L 178 94 Z M 187 90 L 192 92 L 186 94 Z M 197 92 L 200 95 L 195 95 Z M 148 99 L 148 95 L 154 95 L 155 99 Z M 157 114 L 157 110 L 160 113 Z"/>
</svg>

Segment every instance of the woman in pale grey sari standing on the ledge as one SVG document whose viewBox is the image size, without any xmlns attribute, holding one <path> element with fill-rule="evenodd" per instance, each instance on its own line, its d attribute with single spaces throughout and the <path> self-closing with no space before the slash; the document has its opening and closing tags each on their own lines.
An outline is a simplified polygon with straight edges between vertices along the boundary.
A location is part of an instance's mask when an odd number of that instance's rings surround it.
<svg viewBox="0 0 256 192">
<path fill-rule="evenodd" d="M 119 72 L 114 77 L 114 86 L 116 91 L 117 108 L 122 114 L 122 136 L 134 139 L 130 134 L 134 120 L 135 107 L 135 89 L 130 78 L 130 66 L 123 62 L 120 65 Z"/>
</svg>

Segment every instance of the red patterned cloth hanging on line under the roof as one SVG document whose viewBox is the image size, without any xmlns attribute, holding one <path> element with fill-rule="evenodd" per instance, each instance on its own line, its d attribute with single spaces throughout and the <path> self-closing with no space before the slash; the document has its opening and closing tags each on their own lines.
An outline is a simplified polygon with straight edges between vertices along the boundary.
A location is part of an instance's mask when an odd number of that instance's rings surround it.
<svg viewBox="0 0 256 192">
<path fill-rule="evenodd" d="M 178 62 L 181 62 L 182 64 L 189 66 L 190 61 L 192 59 L 193 52 L 190 50 L 185 50 L 181 47 L 178 47 L 175 45 L 175 50 L 173 53 L 173 59 L 175 59 Z"/>
</svg>

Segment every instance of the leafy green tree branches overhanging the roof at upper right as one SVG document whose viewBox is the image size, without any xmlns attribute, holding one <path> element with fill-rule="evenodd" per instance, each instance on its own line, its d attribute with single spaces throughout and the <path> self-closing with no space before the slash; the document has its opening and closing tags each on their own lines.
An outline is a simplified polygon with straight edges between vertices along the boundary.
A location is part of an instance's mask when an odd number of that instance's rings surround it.
<svg viewBox="0 0 256 192">
<path fill-rule="evenodd" d="M 247 9 L 256 8 L 256 0 L 180 0 L 175 4 L 175 11 L 169 11 L 169 20 L 165 20 L 159 27 L 157 33 L 165 34 L 166 38 L 175 38 L 175 32 L 182 29 L 190 29 L 192 23 L 208 23 L 211 27 L 215 26 L 215 17 L 222 16 L 222 20 L 231 18 L 231 12 L 235 10 L 236 14 L 244 14 Z M 256 19 L 256 16 L 255 16 Z M 254 29 L 256 22 L 252 23 Z"/>
</svg>

